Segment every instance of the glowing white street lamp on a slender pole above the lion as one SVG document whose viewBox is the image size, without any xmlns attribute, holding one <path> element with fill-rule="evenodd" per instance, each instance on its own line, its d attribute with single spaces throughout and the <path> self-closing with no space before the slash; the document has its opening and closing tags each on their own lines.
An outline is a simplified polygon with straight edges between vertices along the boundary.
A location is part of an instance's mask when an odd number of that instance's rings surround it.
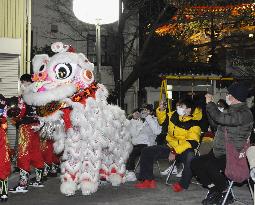
<svg viewBox="0 0 255 205">
<path fill-rule="evenodd" d="M 100 26 L 119 19 L 119 0 L 73 0 L 74 15 L 81 21 L 96 26 L 96 79 L 100 80 Z"/>
</svg>

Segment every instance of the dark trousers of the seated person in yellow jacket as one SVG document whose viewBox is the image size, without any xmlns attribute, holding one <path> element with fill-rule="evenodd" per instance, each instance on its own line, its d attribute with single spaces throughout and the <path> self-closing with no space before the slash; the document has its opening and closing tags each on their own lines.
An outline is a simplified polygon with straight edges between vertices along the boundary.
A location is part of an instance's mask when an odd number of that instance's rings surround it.
<svg viewBox="0 0 255 205">
<path fill-rule="evenodd" d="M 152 180 L 153 164 L 158 159 L 167 159 L 170 154 L 170 148 L 166 146 L 156 145 L 144 148 L 141 154 L 140 161 L 140 180 Z M 182 178 L 180 184 L 183 188 L 187 189 L 192 178 L 192 171 L 190 169 L 190 163 L 194 158 L 194 151 L 187 149 L 182 154 L 177 155 L 177 160 L 184 163 L 184 170 L 182 172 Z"/>
</svg>

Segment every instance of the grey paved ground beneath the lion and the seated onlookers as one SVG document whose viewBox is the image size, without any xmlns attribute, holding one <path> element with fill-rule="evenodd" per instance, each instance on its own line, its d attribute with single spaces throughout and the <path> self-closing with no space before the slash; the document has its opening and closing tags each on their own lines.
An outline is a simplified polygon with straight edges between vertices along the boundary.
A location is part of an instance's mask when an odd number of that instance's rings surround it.
<svg viewBox="0 0 255 205">
<path fill-rule="evenodd" d="M 155 168 L 156 170 L 156 168 Z M 206 190 L 196 184 L 181 193 L 174 193 L 164 184 L 165 177 L 159 177 L 156 170 L 158 187 L 154 190 L 137 190 L 134 183 L 126 183 L 119 187 L 105 184 L 91 196 L 83 196 L 81 192 L 73 197 L 65 197 L 59 191 L 59 179 L 52 178 L 45 182 L 44 188 L 30 188 L 26 194 L 10 194 L 5 203 L 15 205 L 198 205 L 206 194 Z M 17 180 L 17 175 L 10 177 L 10 186 Z M 173 177 L 174 182 L 177 178 Z M 234 188 L 238 198 L 252 204 L 251 195 L 246 185 Z M 240 204 L 235 202 L 234 204 Z"/>
</svg>

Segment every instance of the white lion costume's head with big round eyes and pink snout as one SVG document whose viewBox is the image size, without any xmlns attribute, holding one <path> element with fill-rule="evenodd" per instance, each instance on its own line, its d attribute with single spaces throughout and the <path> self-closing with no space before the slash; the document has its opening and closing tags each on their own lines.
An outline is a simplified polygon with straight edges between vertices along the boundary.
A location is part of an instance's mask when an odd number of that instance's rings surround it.
<svg viewBox="0 0 255 205">
<path fill-rule="evenodd" d="M 34 83 L 24 93 L 28 104 L 41 106 L 71 97 L 94 82 L 94 65 L 82 53 L 75 53 L 61 42 L 52 44 L 51 58 L 36 55 L 33 60 Z"/>
</svg>

